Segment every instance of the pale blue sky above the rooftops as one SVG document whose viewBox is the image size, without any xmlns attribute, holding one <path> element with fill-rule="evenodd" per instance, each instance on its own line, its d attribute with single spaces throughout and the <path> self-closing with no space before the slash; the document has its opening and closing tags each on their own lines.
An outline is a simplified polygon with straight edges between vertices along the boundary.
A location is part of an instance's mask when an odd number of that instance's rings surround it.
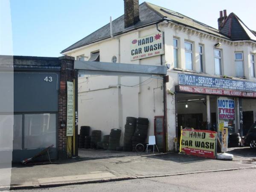
<svg viewBox="0 0 256 192">
<path fill-rule="evenodd" d="M 9 0 L 13 54 L 60 52 L 124 13 L 123 0 Z M 140 0 L 143 3 L 144 0 Z M 255 0 L 147 0 L 218 28 L 219 11 L 234 12 L 256 30 Z"/>
</svg>

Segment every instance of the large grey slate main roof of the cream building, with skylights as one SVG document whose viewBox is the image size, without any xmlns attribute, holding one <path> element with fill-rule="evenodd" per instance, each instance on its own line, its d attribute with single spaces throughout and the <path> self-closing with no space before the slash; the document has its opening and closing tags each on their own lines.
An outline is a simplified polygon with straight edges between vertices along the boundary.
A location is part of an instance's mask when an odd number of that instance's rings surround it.
<svg viewBox="0 0 256 192">
<path fill-rule="evenodd" d="M 192 18 L 186 17 L 185 15 L 180 14 L 178 12 L 160 6 L 156 6 L 147 2 L 140 4 L 140 21 L 135 25 L 129 28 L 124 28 L 124 15 L 118 17 L 116 20 L 113 20 L 113 35 L 115 36 L 118 34 L 122 34 L 145 25 L 152 25 L 163 20 L 164 18 L 167 18 L 168 20 L 171 20 L 174 23 L 179 23 L 185 26 L 189 26 L 191 28 L 195 28 L 200 31 L 204 31 L 209 34 L 214 34 L 218 37 L 231 40 L 226 33 L 220 33 L 218 29 L 212 28 L 211 26 L 201 23 L 197 20 L 193 20 Z M 83 39 L 69 46 L 68 48 L 64 49 L 63 51 L 61 51 L 61 53 L 82 47 L 84 45 L 89 45 L 90 43 L 104 40 L 109 37 L 111 37 L 110 23 L 103 26 L 102 28 L 99 28 L 97 31 L 94 31 L 92 34 L 88 35 L 87 37 L 84 37 Z"/>
</svg>

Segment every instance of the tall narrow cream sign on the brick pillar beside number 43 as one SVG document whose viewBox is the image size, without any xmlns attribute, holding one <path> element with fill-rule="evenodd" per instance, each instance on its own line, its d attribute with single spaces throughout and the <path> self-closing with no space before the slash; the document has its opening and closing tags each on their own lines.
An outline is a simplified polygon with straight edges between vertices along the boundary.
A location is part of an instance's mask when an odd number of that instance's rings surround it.
<svg viewBox="0 0 256 192">
<path fill-rule="evenodd" d="M 74 86 L 67 82 L 67 136 L 73 136 L 74 127 Z"/>
</svg>

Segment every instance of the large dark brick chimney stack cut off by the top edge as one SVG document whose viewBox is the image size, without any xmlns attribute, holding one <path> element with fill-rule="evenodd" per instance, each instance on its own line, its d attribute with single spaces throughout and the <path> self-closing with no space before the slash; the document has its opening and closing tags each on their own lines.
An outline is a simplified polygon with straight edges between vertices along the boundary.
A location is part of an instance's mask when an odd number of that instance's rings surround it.
<svg viewBox="0 0 256 192">
<path fill-rule="evenodd" d="M 124 0 L 125 28 L 135 25 L 140 20 L 139 0 Z"/>
</svg>

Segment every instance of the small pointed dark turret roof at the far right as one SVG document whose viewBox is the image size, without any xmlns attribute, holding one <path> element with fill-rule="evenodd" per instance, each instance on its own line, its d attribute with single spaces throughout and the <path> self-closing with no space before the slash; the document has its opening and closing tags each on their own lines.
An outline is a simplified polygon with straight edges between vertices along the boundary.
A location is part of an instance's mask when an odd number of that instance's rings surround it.
<svg viewBox="0 0 256 192">
<path fill-rule="evenodd" d="M 255 31 L 250 30 L 236 14 L 230 13 L 221 25 L 220 32 L 232 40 L 253 40 L 256 41 Z"/>
</svg>

